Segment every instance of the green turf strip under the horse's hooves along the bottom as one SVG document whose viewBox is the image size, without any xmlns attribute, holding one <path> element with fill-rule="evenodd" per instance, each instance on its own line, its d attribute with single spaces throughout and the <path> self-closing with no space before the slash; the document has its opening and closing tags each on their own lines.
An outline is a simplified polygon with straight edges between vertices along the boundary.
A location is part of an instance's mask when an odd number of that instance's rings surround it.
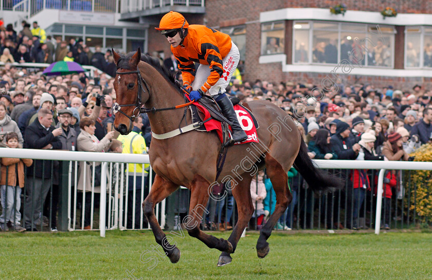
<svg viewBox="0 0 432 280">
<path fill-rule="evenodd" d="M 185 232 L 186 233 L 186 232 Z M 216 267 L 220 252 L 201 241 L 174 237 L 177 264 L 156 256 L 150 231 L 0 233 L 0 279 L 432 279 L 432 234 L 282 234 L 259 259 L 256 233 L 241 238 L 232 263 Z M 172 236 L 172 234 L 169 234 Z M 228 233 L 215 233 L 226 238 Z M 156 257 L 155 257 L 156 258 Z"/>
</svg>

